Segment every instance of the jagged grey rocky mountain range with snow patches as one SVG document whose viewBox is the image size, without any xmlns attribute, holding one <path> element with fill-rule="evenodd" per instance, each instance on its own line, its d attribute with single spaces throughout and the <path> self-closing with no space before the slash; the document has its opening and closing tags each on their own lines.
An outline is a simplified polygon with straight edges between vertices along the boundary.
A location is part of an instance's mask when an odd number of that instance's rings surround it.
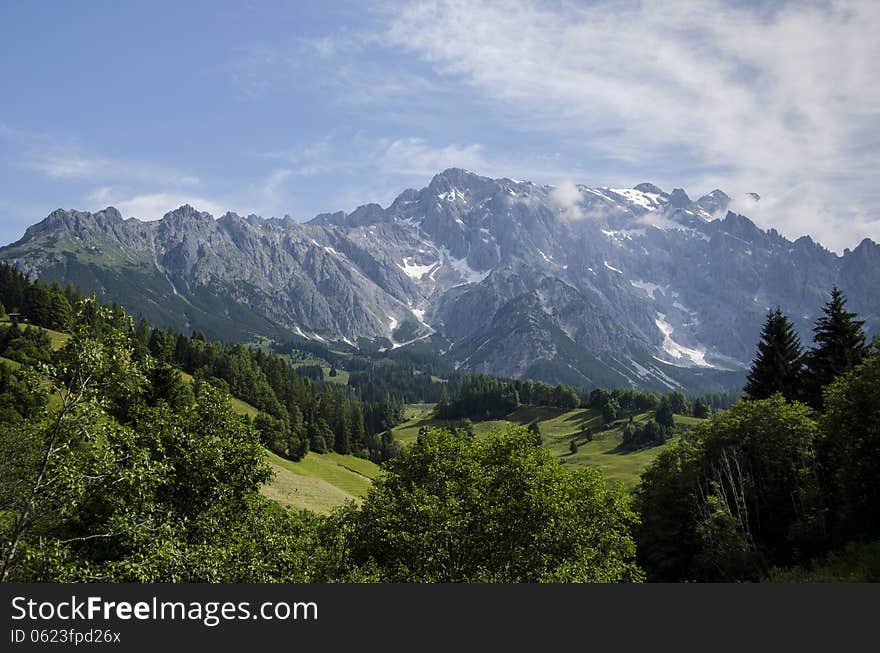
<svg viewBox="0 0 880 653">
<path fill-rule="evenodd" d="M 571 210 L 550 186 L 450 169 L 387 209 L 308 223 L 190 206 L 150 223 L 59 209 L 0 258 L 160 326 L 433 338 L 462 370 L 582 385 L 735 386 L 766 311 L 781 306 L 809 342 L 834 284 L 869 329 L 880 324 L 870 240 L 843 256 L 792 242 L 725 214 L 720 190 L 694 202 L 650 183 L 578 189 Z"/>
</svg>

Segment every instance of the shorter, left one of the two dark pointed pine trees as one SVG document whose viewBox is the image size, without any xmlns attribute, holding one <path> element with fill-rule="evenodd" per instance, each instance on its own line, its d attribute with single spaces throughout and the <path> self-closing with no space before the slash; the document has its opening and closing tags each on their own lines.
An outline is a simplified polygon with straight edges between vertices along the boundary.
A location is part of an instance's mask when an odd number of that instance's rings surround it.
<svg viewBox="0 0 880 653">
<path fill-rule="evenodd" d="M 800 338 L 794 325 L 776 307 L 767 314 L 744 392 L 749 399 L 768 399 L 780 392 L 791 401 L 799 396 L 802 367 Z"/>
</svg>

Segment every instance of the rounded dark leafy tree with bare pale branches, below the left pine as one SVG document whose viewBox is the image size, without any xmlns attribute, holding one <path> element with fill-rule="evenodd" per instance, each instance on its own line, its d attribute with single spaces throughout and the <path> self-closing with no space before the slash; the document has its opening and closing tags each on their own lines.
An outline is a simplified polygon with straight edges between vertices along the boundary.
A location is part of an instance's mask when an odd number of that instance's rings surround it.
<svg viewBox="0 0 880 653">
<path fill-rule="evenodd" d="M 637 490 L 640 562 L 655 580 L 757 580 L 824 534 L 810 409 L 743 401 L 662 452 Z"/>
</svg>

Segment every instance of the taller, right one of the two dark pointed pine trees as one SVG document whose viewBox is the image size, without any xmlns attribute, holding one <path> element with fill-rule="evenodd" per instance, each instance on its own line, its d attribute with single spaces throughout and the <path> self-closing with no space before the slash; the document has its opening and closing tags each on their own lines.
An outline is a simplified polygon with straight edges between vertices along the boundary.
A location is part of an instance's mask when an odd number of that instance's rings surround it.
<svg viewBox="0 0 880 653">
<path fill-rule="evenodd" d="M 850 372 L 867 354 L 863 320 L 846 310 L 846 298 L 837 287 L 813 328 L 814 346 L 806 357 L 804 400 L 822 408 L 822 392 L 838 376 Z"/>
</svg>

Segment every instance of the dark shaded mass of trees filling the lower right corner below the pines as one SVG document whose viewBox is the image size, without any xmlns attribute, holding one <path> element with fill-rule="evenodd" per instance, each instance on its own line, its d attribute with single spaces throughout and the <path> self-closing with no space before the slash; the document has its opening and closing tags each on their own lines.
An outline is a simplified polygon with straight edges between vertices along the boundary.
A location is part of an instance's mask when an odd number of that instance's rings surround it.
<svg viewBox="0 0 880 653">
<path fill-rule="evenodd" d="M 876 577 L 880 356 L 822 403 L 741 401 L 657 457 L 636 492 L 649 579 Z"/>
</svg>

